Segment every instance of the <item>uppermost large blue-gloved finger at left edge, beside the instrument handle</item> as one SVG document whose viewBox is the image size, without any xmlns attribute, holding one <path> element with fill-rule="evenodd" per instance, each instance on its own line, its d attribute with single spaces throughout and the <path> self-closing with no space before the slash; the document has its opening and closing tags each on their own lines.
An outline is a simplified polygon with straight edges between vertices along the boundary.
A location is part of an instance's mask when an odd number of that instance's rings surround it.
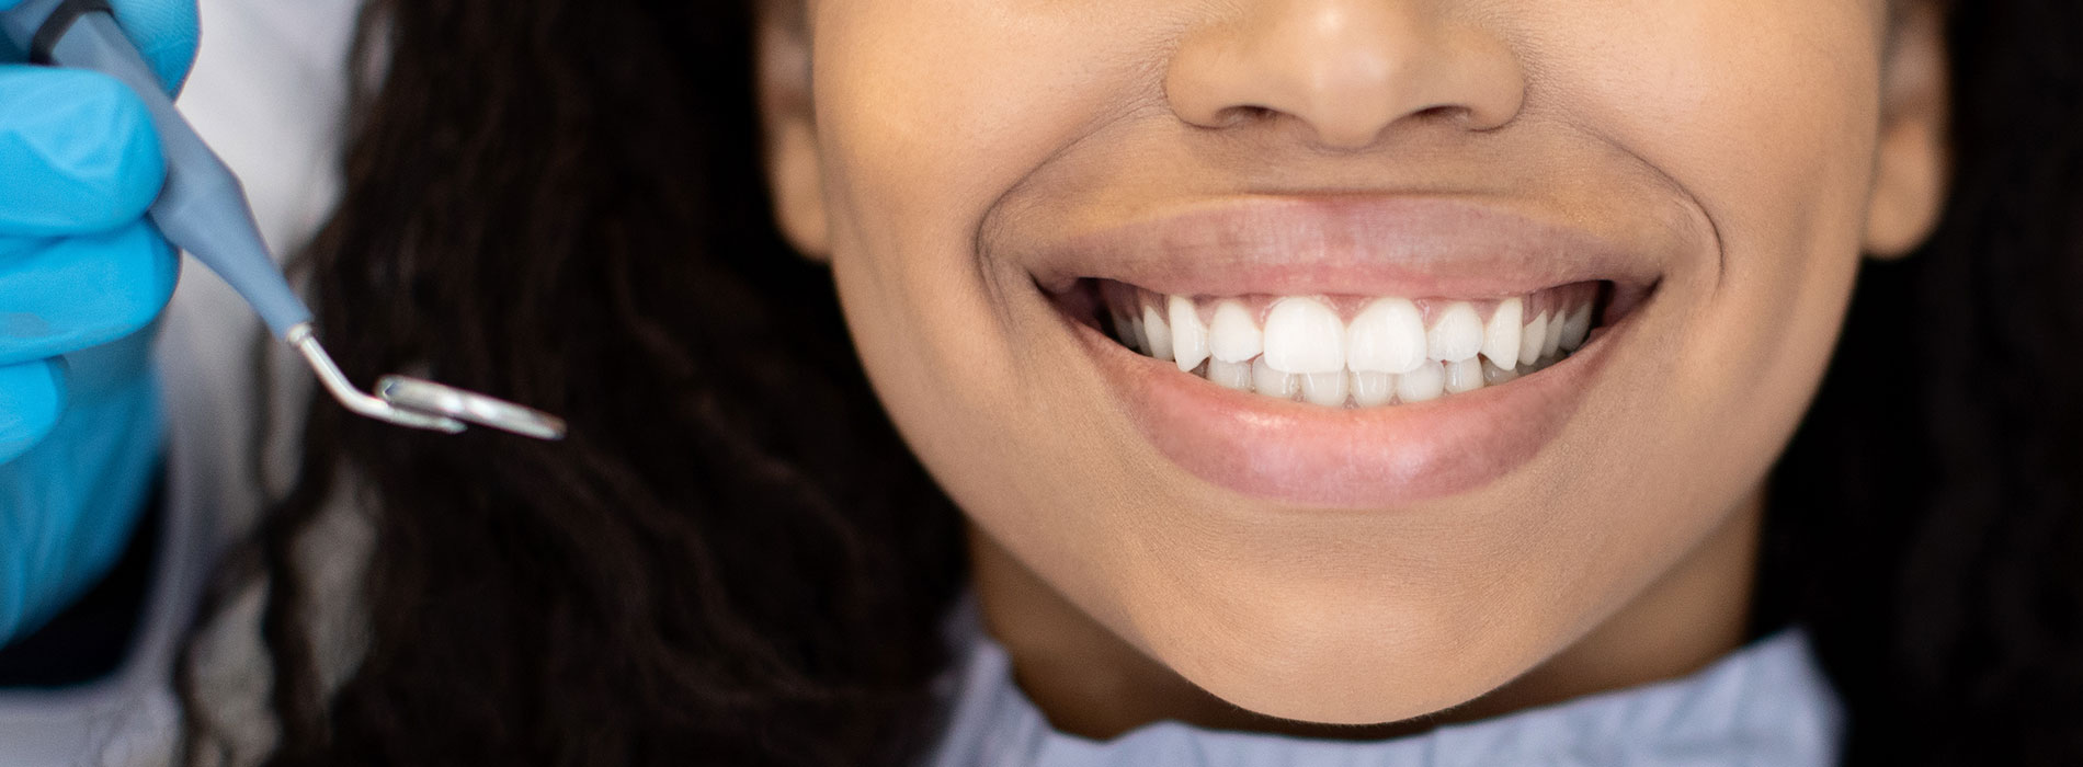
<svg viewBox="0 0 2083 767">
<path fill-rule="evenodd" d="M 0 236 L 106 231 L 167 181 L 152 115 L 115 77 L 0 65 Z"/>
</svg>

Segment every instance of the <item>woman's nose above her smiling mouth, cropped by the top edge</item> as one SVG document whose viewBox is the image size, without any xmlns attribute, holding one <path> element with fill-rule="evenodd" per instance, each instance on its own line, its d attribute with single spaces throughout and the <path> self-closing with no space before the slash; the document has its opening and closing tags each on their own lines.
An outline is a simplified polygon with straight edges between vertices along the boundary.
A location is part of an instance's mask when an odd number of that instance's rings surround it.
<svg viewBox="0 0 2083 767">
<path fill-rule="evenodd" d="M 1179 119 L 1200 127 L 1291 119 L 1316 144 L 1356 150 L 1412 115 L 1496 129 L 1525 104 L 1512 48 L 1452 0 L 1241 0 L 1187 27 L 1164 73 Z"/>
</svg>

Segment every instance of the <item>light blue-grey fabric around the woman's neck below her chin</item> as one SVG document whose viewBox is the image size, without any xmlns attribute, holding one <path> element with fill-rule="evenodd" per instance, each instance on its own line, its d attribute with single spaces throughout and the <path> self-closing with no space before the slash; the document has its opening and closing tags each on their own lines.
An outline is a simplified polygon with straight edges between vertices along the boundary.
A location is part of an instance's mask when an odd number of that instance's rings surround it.
<svg viewBox="0 0 2083 767">
<path fill-rule="evenodd" d="M 1098 742 L 1050 729 L 973 604 L 950 625 L 969 650 L 948 677 L 948 729 L 931 767 L 1823 767 L 1837 761 L 1843 719 L 1808 638 L 1785 629 L 1683 679 L 1410 738 L 1306 740 L 1162 721 Z"/>
</svg>

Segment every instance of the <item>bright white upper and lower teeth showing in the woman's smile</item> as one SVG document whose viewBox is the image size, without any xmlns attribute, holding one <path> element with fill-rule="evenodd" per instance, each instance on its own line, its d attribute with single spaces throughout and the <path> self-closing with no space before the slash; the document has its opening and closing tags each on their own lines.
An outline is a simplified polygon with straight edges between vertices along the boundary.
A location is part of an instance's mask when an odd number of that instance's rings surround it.
<svg viewBox="0 0 2083 767">
<path fill-rule="evenodd" d="M 1181 371 L 1279 398 L 1375 406 L 1473 392 L 1552 365 L 1583 346 L 1591 296 L 1591 283 L 1577 283 L 1487 302 L 1194 300 L 1141 290 L 1110 290 L 1106 300 L 1123 342 Z"/>
</svg>

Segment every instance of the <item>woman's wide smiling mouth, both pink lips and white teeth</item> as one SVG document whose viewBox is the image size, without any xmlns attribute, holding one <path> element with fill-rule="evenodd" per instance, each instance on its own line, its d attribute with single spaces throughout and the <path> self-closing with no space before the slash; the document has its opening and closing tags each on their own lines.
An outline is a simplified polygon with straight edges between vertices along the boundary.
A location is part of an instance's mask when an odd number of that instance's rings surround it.
<svg viewBox="0 0 2083 767">
<path fill-rule="evenodd" d="M 1631 356 L 1675 258 L 1631 231 L 1425 196 L 992 233 L 1156 454 L 1289 509 L 1402 509 L 1535 461 Z"/>
</svg>

